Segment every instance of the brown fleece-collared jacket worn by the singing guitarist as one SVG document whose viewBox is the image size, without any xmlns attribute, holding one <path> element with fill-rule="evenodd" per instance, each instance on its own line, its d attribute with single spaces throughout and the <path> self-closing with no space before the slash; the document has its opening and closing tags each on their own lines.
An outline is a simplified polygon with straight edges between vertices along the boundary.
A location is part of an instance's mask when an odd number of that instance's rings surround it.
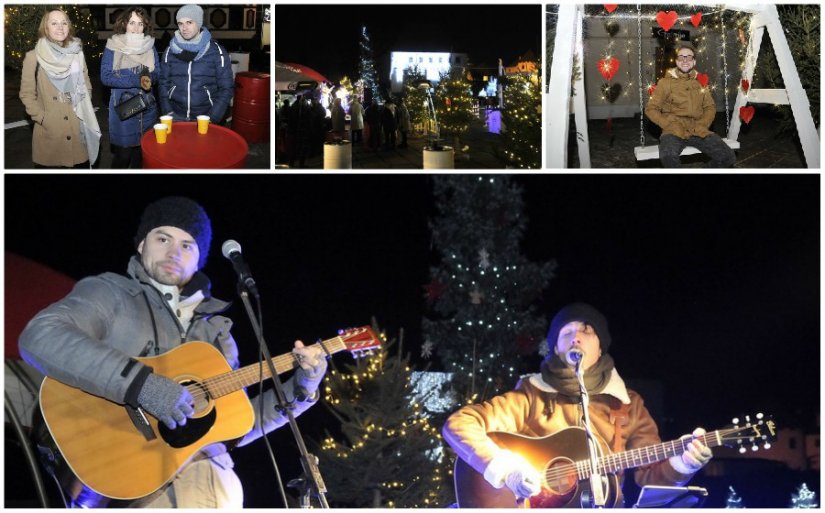
<svg viewBox="0 0 825 513">
<path fill-rule="evenodd" d="M 596 433 L 609 444 L 610 450 L 616 448 L 616 427 L 611 422 L 611 413 L 617 413 L 621 403 L 629 404 L 629 410 L 626 423 L 622 422 L 617 452 L 661 443 L 659 430 L 641 396 L 626 389 L 615 370 L 605 389 L 608 390 L 612 393 L 591 396 L 589 410 Z M 460 458 L 484 474 L 499 451 L 499 447 L 487 436 L 488 432 L 504 431 L 543 437 L 571 426 L 580 426 L 580 410 L 578 402 L 563 400 L 563 396 L 557 395 L 540 374 L 534 374 L 525 377 L 511 392 L 481 404 L 465 406 L 453 413 L 444 425 L 443 435 Z M 676 471 L 668 460 L 635 471 L 639 486 L 681 486 L 690 478 L 690 474 Z"/>
</svg>

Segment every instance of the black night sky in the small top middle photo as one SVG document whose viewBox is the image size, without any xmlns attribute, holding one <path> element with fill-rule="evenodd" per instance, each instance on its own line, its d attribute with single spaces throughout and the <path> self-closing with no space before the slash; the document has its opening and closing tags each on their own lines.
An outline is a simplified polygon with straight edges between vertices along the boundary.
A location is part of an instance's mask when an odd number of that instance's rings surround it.
<svg viewBox="0 0 825 513">
<path fill-rule="evenodd" d="M 358 69 L 366 25 L 380 77 L 390 52 L 454 51 L 475 65 L 512 63 L 541 51 L 540 5 L 282 5 L 275 6 L 275 60 L 309 66 L 332 81 Z"/>
</svg>

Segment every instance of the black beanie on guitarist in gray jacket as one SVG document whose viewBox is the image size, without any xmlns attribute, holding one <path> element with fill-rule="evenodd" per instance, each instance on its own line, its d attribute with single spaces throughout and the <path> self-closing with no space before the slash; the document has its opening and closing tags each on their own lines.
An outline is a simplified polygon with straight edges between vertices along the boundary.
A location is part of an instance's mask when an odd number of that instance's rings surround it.
<svg viewBox="0 0 825 513">
<path fill-rule="evenodd" d="M 182 196 L 168 196 L 149 204 L 140 217 L 135 248 L 158 226 L 174 226 L 194 237 L 200 252 L 198 269 L 203 269 L 212 243 L 212 223 L 203 207 Z"/>
</svg>

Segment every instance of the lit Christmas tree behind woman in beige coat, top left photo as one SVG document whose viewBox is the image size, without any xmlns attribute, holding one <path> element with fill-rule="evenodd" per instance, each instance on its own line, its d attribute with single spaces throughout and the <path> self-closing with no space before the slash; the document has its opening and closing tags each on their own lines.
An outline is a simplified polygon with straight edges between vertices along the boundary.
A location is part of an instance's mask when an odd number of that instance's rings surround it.
<svg viewBox="0 0 825 513">
<path fill-rule="evenodd" d="M 97 38 L 92 16 L 80 5 L 7 5 L 5 14 L 6 66 L 23 69 L 26 52 L 37 44 L 40 20 L 48 9 L 61 9 L 69 16 L 75 29 L 75 37 L 83 41 L 83 54 L 87 61 L 99 61 L 103 55 L 103 43 Z"/>
</svg>

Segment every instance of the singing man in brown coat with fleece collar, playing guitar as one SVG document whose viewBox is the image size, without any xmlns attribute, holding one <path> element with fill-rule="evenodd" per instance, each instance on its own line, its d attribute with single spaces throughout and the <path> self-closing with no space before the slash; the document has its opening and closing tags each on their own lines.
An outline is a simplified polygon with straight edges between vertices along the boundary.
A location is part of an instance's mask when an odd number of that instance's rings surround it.
<svg viewBox="0 0 825 513">
<path fill-rule="evenodd" d="M 533 497 L 531 507 L 578 505 L 573 502 L 579 499 L 578 495 L 569 489 L 571 484 L 575 487 L 575 477 L 572 483 L 548 483 L 539 473 L 542 465 L 556 456 L 568 457 L 570 461 L 587 460 L 586 446 L 570 447 L 567 443 L 571 440 L 567 435 L 578 430 L 565 431 L 571 426 L 581 426 L 582 416 L 578 381 L 574 368 L 565 358 L 573 348 L 584 354 L 581 364 L 590 395 L 590 419 L 602 439 L 602 449 L 618 453 L 661 442 L 642 398 L 625 387 L 613 367 L 613 359 L 607 354 L 610 345 L 607 320 L 600 312 L 584 303 L 562 308 L 553 318 L 547 342 L 550 352 L 540 373 L 525 376 L 511 392 L 461 408 L 447 420 L 444 439 L 462 460 L 456 469 L 460 507 L 513 507 L 516 499 L 528 497 Z M 511 450 L 513 444 L 502 447 L 493 440 L 492 432 L 526 437 L 558 434 L 564 438 L 559 438 L 561 446 L 555 454 L 549 451 L 544 456 L 536 456 L 529 450 Z M 703 434 L 704 430 L 698 428 L 686 436 L 695 438 Z M 684 453 L 640 466 L 635 471 L 636 482 L 639 486 L 684 485 L 711 455 L 708 447 L 694 439 Z M 466 481 L 458 472 L 464 467 L 471 469 Z M 548 476 L 552 474 L 549 472 Z M 620 506 L 619 480 L 613 479 L 609 498 L 612 505 Z M 468 494 L 467 490 L 460 489 L 462 484 L 477 489 Z M 469 496 L 465 503 L 462 503 L 462 494 Z"/>
</svg>

